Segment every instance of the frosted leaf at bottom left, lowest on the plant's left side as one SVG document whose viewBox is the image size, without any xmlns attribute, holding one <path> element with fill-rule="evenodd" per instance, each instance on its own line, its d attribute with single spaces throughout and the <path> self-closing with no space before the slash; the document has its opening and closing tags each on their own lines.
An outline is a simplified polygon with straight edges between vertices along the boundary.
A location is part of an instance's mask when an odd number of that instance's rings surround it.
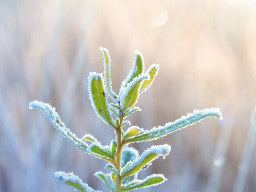
<svg viewBox="0 0 256 192">
<path fill-rule="evenodd" d="M 68 185 L 70 188 L 74 190 L 78 190 L 81 192 L 101 192 L 96 191 L 88 186 L 88 184 L 83 183 L 78 176 L 74 175 L 73 173 L 65 173 L 63 171 L 56 171 L 54 173 L 55 179 L 61 180 L 63 183 Z"/>
</svg>

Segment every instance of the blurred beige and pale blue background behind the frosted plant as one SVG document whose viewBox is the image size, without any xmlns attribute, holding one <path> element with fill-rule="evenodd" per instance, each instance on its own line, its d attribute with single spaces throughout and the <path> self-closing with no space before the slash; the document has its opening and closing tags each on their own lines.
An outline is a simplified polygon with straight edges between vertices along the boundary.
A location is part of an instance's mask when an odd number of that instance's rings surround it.
<svg viewBox="0 0 256 192">
<path fill-rule="evenodd" d="M 150 129 L 193 109 L 219 107 L 206 120 L 157 141 L 133 144 L 140 153 L 168 143 L 171 153 L 139 179 L 163 173 L 154 191 L 255 191 L 256 4 L 242 0 L 0 0 L 0 191 L 72 191 L 54 172 L 74 172 L 108 191 L 94 172 L 105 162 L 68 143 L 31 100 L 56 107 L 77 136 L 103 145 L 113 130 L 88 98 L 90 71 L 103 72 L 99 47 L 112 61 L 118 92 L 134 50 L 160 71 L 139 98 L 132 125 Z M 125 128 L 126 129 L 126 128 Z"/>
</svg>

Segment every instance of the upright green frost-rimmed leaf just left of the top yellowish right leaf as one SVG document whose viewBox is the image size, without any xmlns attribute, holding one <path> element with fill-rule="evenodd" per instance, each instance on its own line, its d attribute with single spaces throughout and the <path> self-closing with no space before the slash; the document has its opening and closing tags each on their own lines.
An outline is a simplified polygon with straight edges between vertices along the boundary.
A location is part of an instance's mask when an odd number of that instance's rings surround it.
<svg viewBox="0 0 256 192">
<path fill-rule="evenodd" d="M 122 88 L 126 87 L 126 85 L 128 83 L 130 83 L 130 81 L 132 81 L 133 78 L 139 76 L 139 74 L 143 73 L 144 71 L 144 59 L 142 54 L 135 50 L 134 53 L 134 60 L 133 60 L 133 64 L 132 64 L 132 69 L 129 72 L 127 78 L 122 82 Z"/>
</svg>

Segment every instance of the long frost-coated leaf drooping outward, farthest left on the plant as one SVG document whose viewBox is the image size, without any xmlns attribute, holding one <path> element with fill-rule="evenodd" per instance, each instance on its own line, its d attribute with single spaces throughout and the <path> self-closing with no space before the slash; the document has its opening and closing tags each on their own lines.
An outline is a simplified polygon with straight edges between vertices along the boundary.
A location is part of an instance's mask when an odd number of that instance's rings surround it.
<svg viewBox="0 0 256 192">
<path fill-rule="evenodd" d="M 54 128 L 58 132 L 60 132 L 68 141 L 70 141 L 75 147 L 83 150 L 84 152 L 88 152 L 88 145 L 82 139 L 77 138 L 76 135 L 70 131 L 70 129 L 65 127 L 65 124 L 61 121 L 60 116 L 55 111 L 55 107 L 52 107 L 48 103 L 34 100 L 29 103 L 29 109 L 34 108 L 40 109 L 40 111 L 42 111 L 52 123 Z"/>
</svg>

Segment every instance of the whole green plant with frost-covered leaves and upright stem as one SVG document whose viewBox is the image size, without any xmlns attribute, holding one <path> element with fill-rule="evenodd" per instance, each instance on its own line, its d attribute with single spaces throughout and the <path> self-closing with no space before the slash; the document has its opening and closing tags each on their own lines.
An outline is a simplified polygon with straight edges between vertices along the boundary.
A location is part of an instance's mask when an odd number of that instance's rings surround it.
<svg viewBox="0 0 256 192">
<path fill-rule="evenodd" d="M 220 109 L 194 110 L 193 113 L 182 116 L 174 122 L 166 123 L 164 126 L 154 127 L 150 130 L 130 126 L 124 131 L 123 127 L 128 124 L 130 125 L 130 121 L 125 121 L 125 118 L 136 111 L 141 111 L 135 105 L 139 95 L 145 92 L 153 83 L 159 66 L 153 64 L 144 73 L 143 57 L 138 51 L 135 51 L 132 69 L 128 77 L 123 81 L 119 94 L 116 94 L 111 87 L 110 56 L 108 50 L 102 47 L 100 47 L 100 50 L 104 58 L 104 76 L 95 72 L 90 73 L 88 77 L 88 90 L 95 113 L 104 123 L 110 125 L 115 132 L 116 137 L 110 142 L 110 145 L 101 145 L 90 134 L 85 134 L 82 138 L 76 137 L 70 129 L 65 127 L 55 108 L 47 103 L 34 100 L 29 103 L 29 107 L 30 109 L 38 108 L 43 111 L 57 131 L 75 147 L 107 161 L 105 168 L 108 173 L 99 171 L 94 176 L 101 179 L 111 192 L 125 192 L 159 185 L 167 180 L 162 174 L 153 174 L 142 180 L 137 179 L 137 175 L 140 171 L 150 166 L 152 161 L 159 156 L 165 158 L 171 151 L 171 146 L 167 144 L 152 146 L 139 156 L 139 152 L 133 147 L 128 147 L 128 144 L 156 140 L 188 125 L 193 125 L 207 117 L 222 118 Z M 108 97 L 110 97 L 112 103 L 108 103 Z M 95 190 L 86 183 L 83 183 L 73 173 L 58 171 L 55 172 L 55 178 L 74 188 L 74 190 L 95 192 Z"/>
</svg>

